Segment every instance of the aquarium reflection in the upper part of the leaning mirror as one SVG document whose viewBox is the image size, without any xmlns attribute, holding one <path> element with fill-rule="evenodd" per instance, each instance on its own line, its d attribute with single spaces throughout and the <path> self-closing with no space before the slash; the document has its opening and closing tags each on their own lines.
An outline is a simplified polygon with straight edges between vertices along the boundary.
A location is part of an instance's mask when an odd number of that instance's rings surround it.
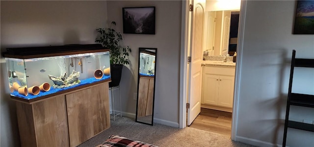
<svg viewBox="0 0 314 147">
<path fill-rule="evenodd" d="M 139 54 L 139 74 L 140 76 L 155 75 L 155 53 L 150 51 Z"/>
</svg>

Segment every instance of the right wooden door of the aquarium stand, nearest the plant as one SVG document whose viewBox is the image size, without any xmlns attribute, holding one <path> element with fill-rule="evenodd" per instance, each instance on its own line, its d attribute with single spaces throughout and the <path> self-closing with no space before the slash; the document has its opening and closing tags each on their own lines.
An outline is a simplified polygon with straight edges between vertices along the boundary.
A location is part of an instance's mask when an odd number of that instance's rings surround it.
<svg viewBox="0 0 314 147">
<path fill-rule="evenodd" d="M 110 127 L 108 83 L 66 95 L 70 146 Z"/>
</svg>

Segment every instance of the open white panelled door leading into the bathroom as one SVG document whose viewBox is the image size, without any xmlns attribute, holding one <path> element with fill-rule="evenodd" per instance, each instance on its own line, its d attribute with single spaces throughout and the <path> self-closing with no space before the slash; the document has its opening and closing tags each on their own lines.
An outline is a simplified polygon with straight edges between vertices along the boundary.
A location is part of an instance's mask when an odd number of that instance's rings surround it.
<svg viewBox="0 0 314 147">
<path fill-rule="evenodd" d="M 194 0 L 192 13 L 192 48 L 190 50 L 187 125 L 190 125 L 201 112 L 204 7 L 198 0 Z"/>
</svg>

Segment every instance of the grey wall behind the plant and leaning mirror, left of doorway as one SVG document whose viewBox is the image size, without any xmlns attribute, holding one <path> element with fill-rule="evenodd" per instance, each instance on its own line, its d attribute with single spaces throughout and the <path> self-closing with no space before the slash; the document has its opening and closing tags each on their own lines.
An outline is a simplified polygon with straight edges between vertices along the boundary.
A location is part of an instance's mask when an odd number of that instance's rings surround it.
<svg viewBox="0 0 314 147">
<path fill-rule="evenodd" d="M 123 32 L 122 7 L 156 7 L 156 34 L 122 34 L 124 45 L 132 48 L 131 65 L 125 66 L 120 82 L 122 111 L 136 112 L 133 92 L 137 92 L 138 48 L 157 48 L 157 73 L 154 118 L 163 124 L 179 127 L 179 83 L 181 8 L 180 0 L 110 0 L 107 1 L 108 22 L 115 21 Z"/>
</svg>

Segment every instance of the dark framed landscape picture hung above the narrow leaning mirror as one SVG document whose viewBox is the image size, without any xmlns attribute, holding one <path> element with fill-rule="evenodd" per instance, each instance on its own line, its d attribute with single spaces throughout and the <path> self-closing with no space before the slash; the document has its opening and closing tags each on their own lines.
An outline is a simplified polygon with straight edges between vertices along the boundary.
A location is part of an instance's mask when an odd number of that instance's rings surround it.
<svg viewBox="0 0 314 147">
<path fill-rule="evenodd" d="M 155 7 L 122 8 L 123 33 L 155 34 Z"/>
</svg>

